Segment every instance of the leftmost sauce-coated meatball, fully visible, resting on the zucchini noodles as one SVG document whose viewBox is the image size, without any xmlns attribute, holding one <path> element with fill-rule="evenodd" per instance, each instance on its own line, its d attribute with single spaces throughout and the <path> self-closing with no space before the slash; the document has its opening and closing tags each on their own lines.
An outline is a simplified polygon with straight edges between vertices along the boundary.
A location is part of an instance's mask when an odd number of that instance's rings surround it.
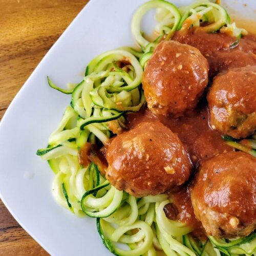
<svg viewBox="0 0 256 256">
<path fill-rule="evenodd" d="M 183 184 L 191 163 L 176 134 L 160 122 L 142 122 L 116 136 L 106 151 L 106 179 L 117 189 L 143 197 Z"/>
</svg>

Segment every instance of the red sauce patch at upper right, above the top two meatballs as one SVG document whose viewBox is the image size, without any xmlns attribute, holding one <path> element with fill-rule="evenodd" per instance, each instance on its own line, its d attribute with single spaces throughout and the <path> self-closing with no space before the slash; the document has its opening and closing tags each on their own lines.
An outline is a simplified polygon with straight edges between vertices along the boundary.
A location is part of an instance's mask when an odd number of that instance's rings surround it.
<svg viewBox="0 0 256 256">
<path fill-rule="evenodd" d="M 191 28 L 177 31 L 172 39 L 200 50 L 209 63 L 209 77 L 228 68 L 256 65 L 256 36 L 252 34 L 238 40 L 224 33 L 207 34 Z"/>
</svg>

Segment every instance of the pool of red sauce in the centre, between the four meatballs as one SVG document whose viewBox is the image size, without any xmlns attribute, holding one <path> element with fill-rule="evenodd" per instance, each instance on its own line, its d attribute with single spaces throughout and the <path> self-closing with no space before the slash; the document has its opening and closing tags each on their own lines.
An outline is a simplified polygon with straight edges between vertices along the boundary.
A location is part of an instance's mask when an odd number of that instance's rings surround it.
<svg viewBox="0 0 256 256">
<path fill-rule="evenodd" d="M 218 131 L 209 127 L 208 118 L 206 106 L 191 111 L 187 116 L 180 118 L 156 116 L 148 109 L 143 109 L 127 115 L 127 126 L 132 129 L 142 121 L 162 122 L 178 134 L 190 155 L 191 161 L 197 167 L 200 160 L 233 150 L 225 144 Z"/>
</svg>

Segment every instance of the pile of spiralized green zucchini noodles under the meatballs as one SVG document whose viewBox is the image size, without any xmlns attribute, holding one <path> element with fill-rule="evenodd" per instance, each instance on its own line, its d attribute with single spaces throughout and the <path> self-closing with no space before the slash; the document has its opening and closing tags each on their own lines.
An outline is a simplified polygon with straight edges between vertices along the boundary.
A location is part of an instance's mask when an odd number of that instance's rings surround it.
<svg viewBox="0 0 256 256">
<path fill-rule="evenodd" d="M 141 32 L 143 15 L 156 9 L 155 41 Z M 205 25 L 207 22 L 208 25 Z M 188 27 L 208 33 L 232 31 L 239 38 L 246 33 L 230 24 L 226 10 L 218 4 L 200 1 L 178 9 L 163 0 L 143 4 L 135 12 L 132 33 L 141 51 L 129 47 L 108 51 L 87 66 L 83 80 L 74 88 L 61 89 L 48 77 L 49 86 L 71 94 L 57 129 L 47 148 L 37 151 L 56 174 L 52 191 L 55 200 L 80 217 L 97 218 L 103 244 L 116 255 L 251 255 L 255 233 L 238 240 L 200 241 L 185 223 L 169 220 L 164 206 L 172 203 L 167 194 L 135 198 L 117 190 L 99 172 L 97 163 L 80 166 L 78 152 L 87 142 L 98 147 L 125 128 L 125 113 L 137 112 L 145 103 L 141 78 L 147 60 L 160 40 Z"/>
</svg>

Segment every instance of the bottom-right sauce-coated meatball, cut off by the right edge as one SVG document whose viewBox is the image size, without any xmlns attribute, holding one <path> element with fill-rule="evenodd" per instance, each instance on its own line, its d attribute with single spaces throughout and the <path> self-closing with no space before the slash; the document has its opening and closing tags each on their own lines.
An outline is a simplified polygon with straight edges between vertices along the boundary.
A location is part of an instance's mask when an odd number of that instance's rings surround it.
<svg viewBox="0 0 256 256">
<path fill-rule="evenodd" d="M 190 187 L 196 217 L 209 236 L 236 238 L 256 228 L 256 158 L 228 152 L 202 161 Z"/>
</svg>

